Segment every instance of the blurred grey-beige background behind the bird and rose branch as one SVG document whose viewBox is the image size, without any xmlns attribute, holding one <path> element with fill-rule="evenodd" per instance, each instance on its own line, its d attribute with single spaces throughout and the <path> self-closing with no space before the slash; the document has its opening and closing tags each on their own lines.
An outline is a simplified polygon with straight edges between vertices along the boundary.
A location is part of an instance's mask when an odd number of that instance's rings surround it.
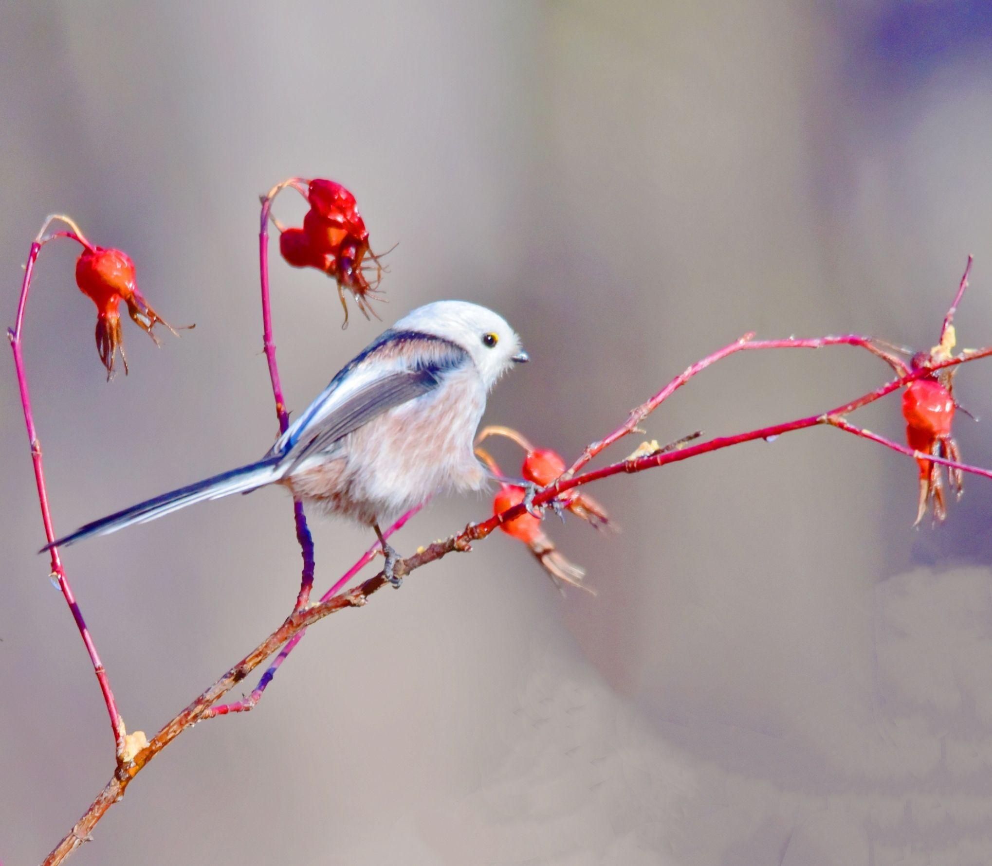
<svg viewBox="0 0 992 866">
<path fill-rule="evenodd" d="M 982 0 L 5 4 L 0 82 L 6 322 L 62 210 L 196 323 L 156 349 L 126 322 L 131 375 L 108 385 L 75 251 L 46 249 L 25 338 L 63 532 L 271 443 L 257 195 L 290 175 L 346 184 L 374 245 L 399 242 L 387 321 L 463 298 L 517 326 L 533 362 L 487 420 L 567 455 L 746 330 L 930 346 L 969 252 L 958 330 L 992 341 Z M 299 410 L 380 325 L 342 331 L 318 274 L 276 260 L 273 285 Z M 746 430 L 886 376 L 854 350 L 738 356 L 647 430 Z M 992 416 L 988 382 L 958 378 L 975 415 Z M 112 753 L 34 553 L 9 363 L 0 394 L 12 866 L 62 837 Z M 898 437 L 897 400 L 861 421 Z M 987 424 L 958 432 L 984 465 Z M 561 597 L 504 537 L 417 572 L 312 629 L 255 712 L 183 735 L 73 862 L 992 862 L 992 484 L 969 478 L 945 526 L 914 531 L 912 461 L 818 430 L 595 492 L 622 536 L 550 525 L 595 597 Z M 438 502 L 397 546 L 487 509 Z M 369 542 L 326 523 L 315 539 L 321 587 Z M 65 562 L 129 729 L 149 733 L 299 580 L 274 491 Z"/>
</svg>

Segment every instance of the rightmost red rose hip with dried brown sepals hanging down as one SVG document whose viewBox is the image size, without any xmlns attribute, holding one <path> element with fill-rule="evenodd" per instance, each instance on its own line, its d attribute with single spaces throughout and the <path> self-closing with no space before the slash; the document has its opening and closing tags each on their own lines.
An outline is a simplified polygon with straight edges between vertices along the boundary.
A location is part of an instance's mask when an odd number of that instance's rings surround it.
<svg viewBox="0 0 992 866">
<path fill-rule="evenodd" d="M 906 439 L 913 450 L 960 462 L 961 452 L 951 435 L 956 405 L 949 385 L 949 378 L 946 378 L 946 384 L 936 378 L 911 382 L 903 392 L 903 418 L 906 419 Z M 914 526 L 924 519 L 928 509 L 935 521 L 942 521 L 947 516 L 944 467 L 919 457 L 917 463 L 920 466 L 920 499 Z M 963 480 L 960 469 L 947 467 L 948 484 L 958 498 Z"/>
</svg>

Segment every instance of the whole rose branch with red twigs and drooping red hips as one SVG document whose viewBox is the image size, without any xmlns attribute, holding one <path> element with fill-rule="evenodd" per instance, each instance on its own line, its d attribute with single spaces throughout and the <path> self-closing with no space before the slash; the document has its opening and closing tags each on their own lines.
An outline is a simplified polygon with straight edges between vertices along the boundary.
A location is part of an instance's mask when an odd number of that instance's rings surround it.
<svg viewBox="0 0 992 866">
<path fill-rule="evenodd" d="M 303 195 L 310 206 L 303 226 L 299 228 L 283 227 L 271 212 L 276 196 L 282 190 L 290 188 Z M 374 314 L 370 302 L 379 292 L 379 283 L 385 269 L 381 256 L 371 251 L 369 232 L 358 211 L 354 196 L 345 187 L 331 181 L 293 178 L 274 186 L 262 198 L 260 217 L 259 265 L 263 346 L 268 361 L 276 415 L 281 432 L 286 433 L 289 428 L 289 412 L 276 361 L 269 291 L 270 223 L 280 231 L 280 252 L 288 264 L 318 270 L 334 280 L 338 296 L 345 307 L 345 322 L 347 321 L 345 293 L 352 296 L 366 317 Z M 69 230 L 50 233 L 49 227 L 53 219 L 61 219 Z M 118 352 L 122 361 L 124 357 L 122 329 L 118 315 L 118 308 L 122 302 L 126 305 L 131 318 L 148 333 L 152 334 L 153 328 L 159 323 L 163 327 L 170 327 L 138 290 L 135 267 L 126 254 L 119 250 L 94 246 L 67 217 L 53 217 L 46 221 L 31 245 L 17 317 L 14 327 L 9 331 L 9 336 L 45 535 L 50 545 L 58 537 L 53 527 L 42 462 L 42 446 L 35 428 L 28 390 L 23 355 L 23 328 L 32 275 L 39 253 L 48 242 L 60 237 L 73 240 L 83 248 L 76 267 L 76 282 L 79 289 L 96 304 L 97 346 L 108 378 L 114 372 Z M 970 268 L 970 259 L 968 265 Z M 992 478 L 992 470 L 960 462 L 960 455 L 952 435 L 953 420 L 958 408 L 954 391 L 955 372 L 963 364 L 992 355 L 992 347 L 966 349 L 955 353 L 956 336 L 953 317 L 967 286 L 967 277 L 966 270 L 954 302 L 944 318 L 937 344 L 929 351 L 914 353 L 895 348 L 881 340 L 856 334 L 808 339 L 757 340 L 754 334 L 748 333 L 689 366 L 652 398 L 634 409 L 616 430 L 590 443 L 570 466 L 566 465 L 557 452 L 546 446 L 535 446 L 522 433 L 500 427 L 483 430 L 477 437 L 477 453 L 480 459 L 488 464 L 490 471 L 502 479 L 493 501 L 492 513 L 478 523 L 469 524 L 461 532 L 443 541 L 422 547 L 410 557 L 400 559 L 395 563 L 394 575 L 404 577 L 448 554 L 469 551 L 474 542 L 485 539 L 495 529 L 500 528 L 512 539 L 526 545 L 559 585 L 582 585 L 582 569 L 569 562 L 558 551 L 545 530 L 543 519 L 547 516 L 547 512 L 552 510 L 562 518 L 570 514 L 597 529 L 615 530 L 615 524 L 603 506 L 582 489 L 586 485 L 612 475 L 658 468 L 755 439 L 767 439 L 823 425 L 861 436 L 914 458 L 920 475 L 917 521 L 919 522 L 928 510 L 932 512 L 935 521 L 943 520 L 946 516 L 948 486 L 960 495 L 964 473 Z M 699 433 L 692 433 L 678 442 L 665 446 L 659 445 L 657 441 L 645 441 L 622 459 L 598 468 L 588 468 L 591 460 L 610 449 L 620 439 L 634 433 L 643 433 L 642 426 L 655 410 L 690 379 L 717 361 L 740 351 L 814 349 L 827 346 L 852 346 L 871 352 L 894 371 L 895 377 L 847 403 L 827 408 L 816 415 L 713 438 L 703 438 Z M 902 417 L 907 425 L 906 444 L 864 430 L 849 420 L 856 410 L 896 391 L 903 393 Z M 893 407 L 893 415 L 897 415 L 895 407 Z M 495 459 L 488 450 L 481 447 L 483 441 L 494 435 L 510 438 L 524 449 L 522 478 L 519 483 L 505 479 Z M 388 539 L 401 529 L 420 508 L 421 505 L 416 506 L 395 521 L 383 532 L 383 539 Z M 97 654 L 95 641 L 86 627 L 79 603 L 65 575 L 59 547 L 50 549 L 52 572 L 59 582 L 82 637 L 107 707 L 114 735 L 115 768 L 103 791 L 65 834 L 46 863 L 61 863 L 83 841 L 89 839 L 93 827 L 107 809 L 120 800 L 131 781 L 144 770 L 152 758 L 195 722 L 245 712 L 257 706 L 279 667 L 303 639 L 311 625 L 336 611 L 364 606 L 368 599 L 385 585 L 387 580 L 381 571 L 363 582 L 349 585 L 359 571 L 380 553 L 380 544 L 377 543 L 359 557 L 343 575 L 333 581 L 317 601 L 312 602 L 310 594 L 314 579 L 314 552 L 304 506 L 300 499 L 294 502 L 294 518 L 304 564 L 300 589 L 289 616 L 255 649 L 193 698 L 186 708 L 163 725 L 151 740 L 147 740 L 141 731 L 127 733 L 117 709 L 109 677 Z M 273 661 L 247 697 L 227 704 L 219 702 L 236 684 L 247 679 L 269 659 Z"/>
</svg>

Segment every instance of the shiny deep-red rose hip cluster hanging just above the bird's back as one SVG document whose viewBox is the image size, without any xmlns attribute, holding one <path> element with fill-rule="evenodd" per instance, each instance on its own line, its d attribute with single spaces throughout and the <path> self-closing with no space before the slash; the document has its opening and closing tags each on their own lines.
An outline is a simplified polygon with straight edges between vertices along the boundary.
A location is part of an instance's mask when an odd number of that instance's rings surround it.
<svg viewBox="0 0 992 866">
<path fill-rule="evenodd" d="M 333 278 L 344 309 L 342 327 L 348 324 L 345 290 L 366 318 L 378 318 L 370 301 L 379 294 L 385 269 L 381 256 L 369 248 L 369 232 L 355 196 L 344 186 L 323 178 L 310 181 L 306 195 L 310 210 L 303 227 L 281 228 L 279 250 L 283 259 L 294 268 L 314 268 Z M 374 274 L 371 280 L 370 274 Z"/>
</svg>

